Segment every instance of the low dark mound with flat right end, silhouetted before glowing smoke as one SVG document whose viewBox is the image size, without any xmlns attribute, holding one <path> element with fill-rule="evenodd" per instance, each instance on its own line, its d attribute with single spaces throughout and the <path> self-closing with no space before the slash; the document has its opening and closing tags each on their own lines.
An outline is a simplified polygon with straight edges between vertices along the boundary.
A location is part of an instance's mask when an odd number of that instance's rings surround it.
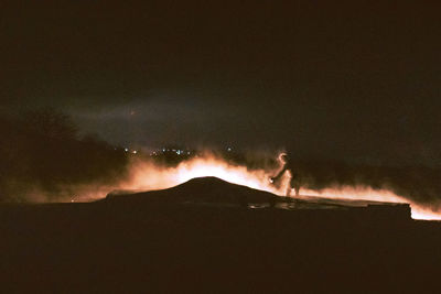
<svg viewBox="0 0 441 294">
<path fill-rule="evenodd" d="M 295 198 L 280 197 L 275 194 L 232 184 L 217 177 L 196 177 L 181 185 L 142 193 L 115 192 L 99 203 L 126 204 L 126 205 L 152 205 L 152 204 L 185 204 L 185 205 L 212 205 L 248 208 L 280 208 L 303 214 L 313 214 L 318 209 L 340 210 L 340 215 L 353 217 L 386 218 L 390 220 L 409 220 L 410 207 L 407 204 L 329 199 L 315 196 L 300 196 Z M 310 210 L 310 211 L 305 211 Z"/>
</svg>

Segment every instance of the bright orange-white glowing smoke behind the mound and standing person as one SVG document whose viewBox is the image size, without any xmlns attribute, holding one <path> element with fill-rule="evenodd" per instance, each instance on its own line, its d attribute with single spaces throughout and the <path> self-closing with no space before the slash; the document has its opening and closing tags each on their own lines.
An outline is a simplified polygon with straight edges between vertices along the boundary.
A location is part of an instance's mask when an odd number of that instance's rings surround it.
<svg viewBox="0 0 441 294">
<path fill-rule="evenodd" d="M 195 157 L 182 162 L 176 167 L 158 167 L 152 163 L 138 163 L 133 165 L 131 171 L 130 181 L 120 188 L 138 190 L 163 189 L 180 185 L 195 177 L 214 176 L 232 184 L 284 196 L 289 181 L 286 175 L 283 178 L 284 184 L 278 188 L 269 182 L 269 178 L 276 174 L 277 170 L 249 170 L 243 165 L 232 165 L 214 155 Z M 441 220 L 440 213 L 431 211 L 386 188 L 374 189 L 366 186 L 338 186 L 322 190 L 302 188 L 301 194 L 329 199 L 409 203 L 413 219 Z"/>
</svg>

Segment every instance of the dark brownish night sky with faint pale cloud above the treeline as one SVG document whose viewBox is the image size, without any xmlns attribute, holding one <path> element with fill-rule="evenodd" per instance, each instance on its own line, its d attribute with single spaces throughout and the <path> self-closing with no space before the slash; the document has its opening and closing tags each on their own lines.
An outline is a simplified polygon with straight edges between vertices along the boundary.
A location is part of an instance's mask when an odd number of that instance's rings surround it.
<svg viewBox="0 0 441 294">
<path fill-rule="evenodd" d="M 437 1 L 61 2 L 0 3 L 0 110 L 132 145 L 441 164 Z"/>
</svg>

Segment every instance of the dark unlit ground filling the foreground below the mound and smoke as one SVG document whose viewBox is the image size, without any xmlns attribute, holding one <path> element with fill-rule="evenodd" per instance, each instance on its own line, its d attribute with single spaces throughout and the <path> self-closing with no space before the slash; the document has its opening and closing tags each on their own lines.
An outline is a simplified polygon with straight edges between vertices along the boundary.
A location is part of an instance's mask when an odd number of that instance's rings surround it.
<svg viewBox="0 0 441 294">
<path fill-rule="evenodd" d="M 351 209 L 0 206 L 1 293 L 439 293 L 441 224 Z"/>
</svg>

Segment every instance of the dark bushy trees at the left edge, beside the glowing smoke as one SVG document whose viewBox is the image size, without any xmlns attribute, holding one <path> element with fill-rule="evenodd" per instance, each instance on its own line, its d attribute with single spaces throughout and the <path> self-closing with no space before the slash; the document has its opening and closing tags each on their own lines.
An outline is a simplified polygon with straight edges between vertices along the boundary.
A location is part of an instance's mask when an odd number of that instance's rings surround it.
<svg viewBox="0 0 441 294">
<path fill-rule="evenodd" d="M 0 118 L 0 202 L 22 202 L 34 190 L 47 200 L 78 184 L 111 183 L 128 156 L 97 137 L 80 137 L 54 109 Z"/>
</svg>

